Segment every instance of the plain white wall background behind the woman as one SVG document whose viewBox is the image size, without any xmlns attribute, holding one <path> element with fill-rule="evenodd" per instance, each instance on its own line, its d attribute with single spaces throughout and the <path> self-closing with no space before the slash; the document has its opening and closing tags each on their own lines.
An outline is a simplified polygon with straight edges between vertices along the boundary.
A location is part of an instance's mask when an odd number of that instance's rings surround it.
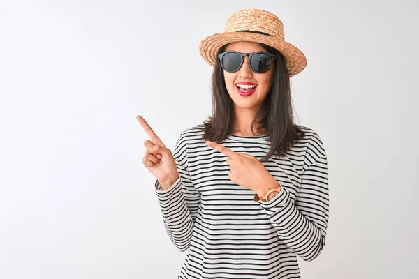
<svg viewBox="0 0 419 279">
<path fill-rule="evenodd" d="M 0 278 L 177 278 L 142 165 L 211 114 L 200 40 L 270 10 L 307 56 L 295 121 L 328 154 L 302 278 L 418 278 L 418 1 L 0 1 Z M 300 260 L 300 259 L 299 259 Z"/>
</svg>

